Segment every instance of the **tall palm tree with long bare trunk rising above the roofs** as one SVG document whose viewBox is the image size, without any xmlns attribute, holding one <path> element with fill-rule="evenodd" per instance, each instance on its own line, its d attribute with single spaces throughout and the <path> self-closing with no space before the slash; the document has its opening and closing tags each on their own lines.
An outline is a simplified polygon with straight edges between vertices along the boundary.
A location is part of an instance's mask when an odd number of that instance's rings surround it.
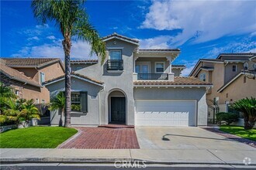
<svg viewBox="0 0 256 170">
<path fill-rule="evenodd" d="M 105 43 L 99 37 L 98 32 L 88 22 L 88 16 L 83 8 L 84 0 L 33 0 L 31 7 L 36 19 L 42 23 L 55 22 L 64 38 L 62 46 L 64 49 L 65 63 L 65 127 L 71 127 L 71 38 L 78 38 L 88 42 L 92 51 L 106 58 Z"/>
</svg>

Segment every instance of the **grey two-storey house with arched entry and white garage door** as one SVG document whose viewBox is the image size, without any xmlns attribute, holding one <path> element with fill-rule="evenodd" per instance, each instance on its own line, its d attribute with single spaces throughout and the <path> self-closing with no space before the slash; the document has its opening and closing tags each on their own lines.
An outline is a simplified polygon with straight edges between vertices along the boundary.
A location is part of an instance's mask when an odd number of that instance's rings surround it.
<svg viewBox="0 0 256 170">
<path fill-rule="evenodd" d="M 172 66 L 179 49 L 138 49 L 139 41 L 116 33 L 102 38 L 107 59 L 71 61 L 71 124 L 198 126 L 207 124 L 206 90 L 194 77 Z M 175 72 L 175 73 L 174 73 Z M 54 96 L 64 91 L 64 76 L 44 83 Z M 51 124 L 60 121 L 51 112 Z"/>
</svg>

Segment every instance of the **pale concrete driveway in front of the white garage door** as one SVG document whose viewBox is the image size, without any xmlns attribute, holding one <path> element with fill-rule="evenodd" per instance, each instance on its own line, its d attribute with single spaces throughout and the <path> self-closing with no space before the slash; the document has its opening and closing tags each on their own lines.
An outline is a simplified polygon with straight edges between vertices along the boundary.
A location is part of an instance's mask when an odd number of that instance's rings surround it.
<svg viewBox="0 0 256 170">
<path fill-rule="evenodd" d="M 256 151 L 249 145 L 197 127 L 137 127 L 136 133 L 141 149 Z"/>
</svg>

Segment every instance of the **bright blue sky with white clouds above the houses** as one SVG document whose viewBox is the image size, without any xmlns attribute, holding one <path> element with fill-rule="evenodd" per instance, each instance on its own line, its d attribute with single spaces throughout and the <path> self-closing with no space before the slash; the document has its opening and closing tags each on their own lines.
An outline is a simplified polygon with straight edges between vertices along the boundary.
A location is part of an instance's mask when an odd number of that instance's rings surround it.
<svg viewBox="0 0 256 170">
<path fill-rule="evenodd" d="M 33 18 L 30 1 L 1 1 L 1 56 L 60 57 L 61 34 Z M 174 63 L 188 75 L 200 58 L 256 53 L 255 1 L 88 1 L 100 36 L 117 32 L 140 40 L 141 49 L 179 48 Z M 88 59 L 90 46 L 73 41 L 71 57 Z"/>
</svg>

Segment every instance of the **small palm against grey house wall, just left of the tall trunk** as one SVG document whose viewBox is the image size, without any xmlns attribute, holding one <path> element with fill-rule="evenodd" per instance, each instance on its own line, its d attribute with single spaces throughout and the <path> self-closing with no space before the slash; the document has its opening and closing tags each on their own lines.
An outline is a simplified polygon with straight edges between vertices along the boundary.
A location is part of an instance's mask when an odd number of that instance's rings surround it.
<svg viewBox="0 0 256 170">
<path fill-rule="evenodd" d="M 64 117 L 64 108 L 65 108 L 65 94 L 60 92 L 50 100 L 50 110 L 59 110 L 61 111 L 61 118 L 59 126 L 63 126 L 63 117 Z"/>
</svg>

